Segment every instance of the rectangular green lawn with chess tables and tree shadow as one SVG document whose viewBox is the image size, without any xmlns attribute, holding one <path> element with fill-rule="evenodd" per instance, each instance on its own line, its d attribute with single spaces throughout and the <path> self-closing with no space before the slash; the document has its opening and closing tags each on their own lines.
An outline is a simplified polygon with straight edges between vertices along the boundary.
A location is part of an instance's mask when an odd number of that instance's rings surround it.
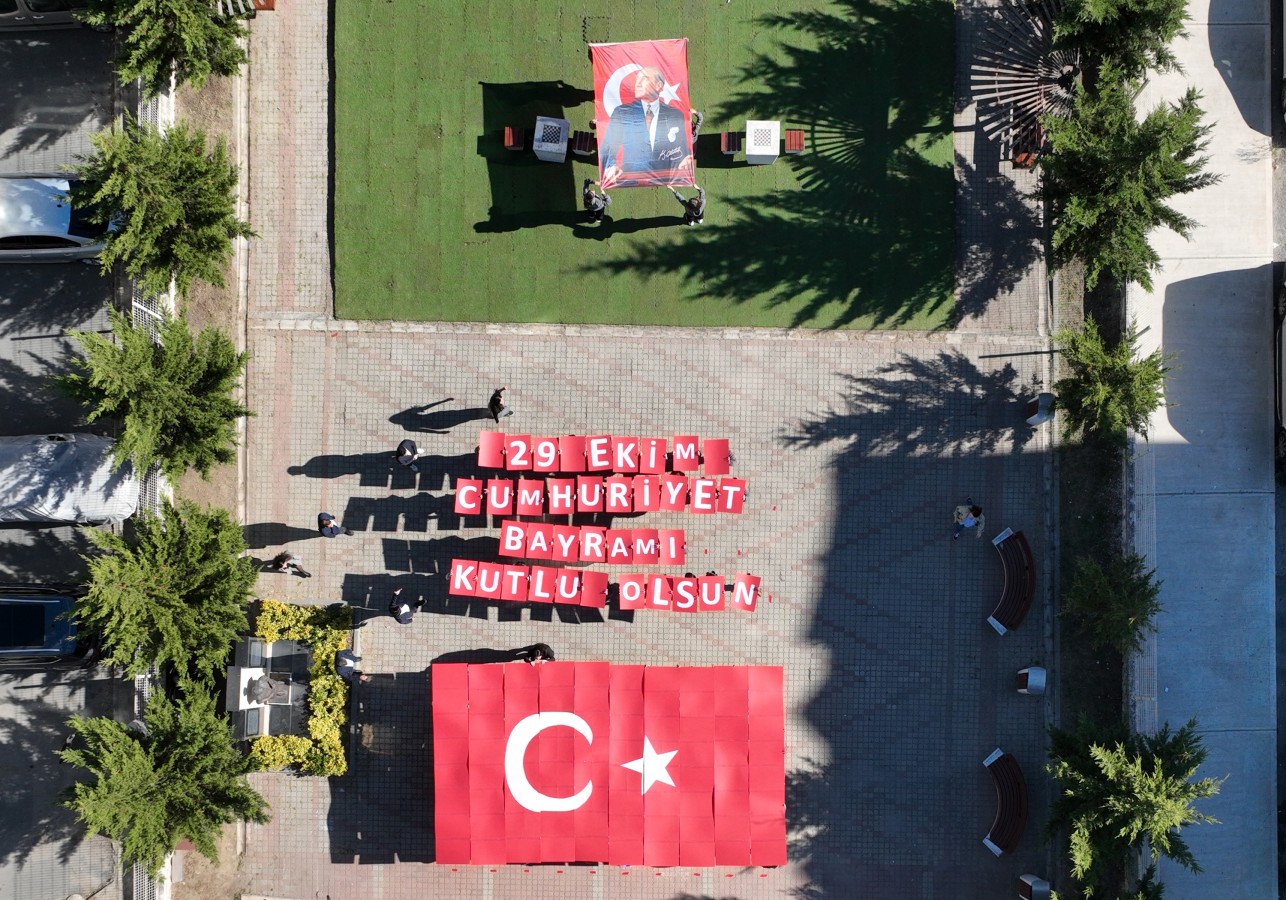
<svg viewBox="0 0 1286 900">
<path fill-rule="evenodd" d="M 940 328 L 953 312 L 948 0 L 340 3 L 334 284 L 347 319 Z M 664 188 L 590 225 L 563 165 L 502 147 L 585 129 L 589 41 L 688 37 L 706 114 L 703 225 Z M 719 152 L 746 118 L 806 130 L 772 166 Z"/>
</svg>

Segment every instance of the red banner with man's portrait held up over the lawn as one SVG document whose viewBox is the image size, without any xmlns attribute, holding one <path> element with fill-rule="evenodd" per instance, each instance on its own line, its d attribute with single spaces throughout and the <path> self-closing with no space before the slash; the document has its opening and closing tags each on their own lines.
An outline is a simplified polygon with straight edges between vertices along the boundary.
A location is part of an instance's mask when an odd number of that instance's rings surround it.
<svg viewBox="0 0 1286 900">
<path fill-rule="evenodd" d="M 590 44 L 603 189 L 693 184 L 688 39 Z"/>
</svg>

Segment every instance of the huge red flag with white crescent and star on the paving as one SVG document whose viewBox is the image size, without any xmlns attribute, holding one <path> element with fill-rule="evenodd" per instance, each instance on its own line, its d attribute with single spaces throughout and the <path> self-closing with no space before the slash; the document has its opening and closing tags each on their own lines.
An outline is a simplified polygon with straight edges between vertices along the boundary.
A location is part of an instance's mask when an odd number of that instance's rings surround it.
<svg viewBox="0 0 1286 900">
<path fill-rule="evenodd" d="M 781 865 L 779 666 L 436 665 L 439 863 Z"/>
</svg>

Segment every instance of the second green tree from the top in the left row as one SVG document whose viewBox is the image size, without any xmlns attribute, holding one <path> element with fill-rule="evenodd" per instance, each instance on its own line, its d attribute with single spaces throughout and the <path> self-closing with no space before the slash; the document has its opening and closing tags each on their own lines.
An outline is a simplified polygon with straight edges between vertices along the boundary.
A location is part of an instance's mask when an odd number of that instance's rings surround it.
<svg viewBox="0 0 1286 900">
<path fill-rule="evenodd" d="M 208 14 L 208 12 L 207 12 Z M 93 136 L 94 152 L 73 177 L 72 202 L 109 228 L 99 261 L 125 264 L 144 291 L 161 294 L 171 279 L 186 296 L 201 279 L 224 285 L 233 239 L 253 237 L 237 217 L 237 166 L 220 138 L 184 122 L 165 134 L 130 117 Z"/>
</svg>

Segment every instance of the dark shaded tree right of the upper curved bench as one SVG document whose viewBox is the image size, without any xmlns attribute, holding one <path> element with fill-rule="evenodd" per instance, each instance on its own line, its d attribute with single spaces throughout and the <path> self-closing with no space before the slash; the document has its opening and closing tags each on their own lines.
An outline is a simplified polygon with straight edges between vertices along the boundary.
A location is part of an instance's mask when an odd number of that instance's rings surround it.
<svg viewBox="0 0 1286 900">
<path fill-rule="evenodd" d="M 1103 568 L 1083 558 L 1076 566 L 1060 615 L 1080 621 L 1097 647 L 1121 654 L 1142 649 L 1143 635 L 1155 631 L 1161 612 L 1161 582 L 1137 553 L 1116 557 Z"/>
</svg>

